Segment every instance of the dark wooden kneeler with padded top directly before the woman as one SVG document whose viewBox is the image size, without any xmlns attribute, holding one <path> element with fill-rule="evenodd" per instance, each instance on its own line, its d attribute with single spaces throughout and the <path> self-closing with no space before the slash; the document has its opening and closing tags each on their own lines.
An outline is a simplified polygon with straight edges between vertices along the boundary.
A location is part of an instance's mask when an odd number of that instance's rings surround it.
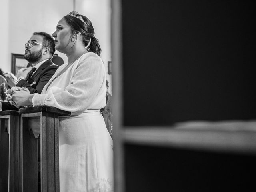
<svg viewBox="0 0 256 192">
<path fill-rule="evenodd" d="M 36 106 L 21 108 L 19 113 L 22 190 L 59 192 L 59 116 L 70 116 L 71 112 Z"/>
</svg>

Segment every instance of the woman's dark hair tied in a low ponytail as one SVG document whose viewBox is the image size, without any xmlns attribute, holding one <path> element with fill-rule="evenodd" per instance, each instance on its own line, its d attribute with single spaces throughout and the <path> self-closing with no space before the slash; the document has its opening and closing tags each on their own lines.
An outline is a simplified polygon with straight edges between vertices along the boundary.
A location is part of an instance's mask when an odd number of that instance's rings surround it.
<svg viewBox="0 0 256 192">
<path fill-rule="evenodd" d="M 81 35 L 83 37 L 84 46 L 86 47 L 91 39 L 91 43 L 88 46 L 87 50 L 89 52 L 96 53 L 98 56 L 100 56 L 101 48 L 100 44 L 97 38 L 94 37 L 94 28 L 92 26 L 92 22 L 83 15 L 80 15 L 84 22 L 82 22 L 80 19 L 71 16 L 66 15 L 63 18 L 66 20 L 67 24 L 71 27 L 72 33 L 76 34 L 76 31 L 81 32 Z"/>
</svg>

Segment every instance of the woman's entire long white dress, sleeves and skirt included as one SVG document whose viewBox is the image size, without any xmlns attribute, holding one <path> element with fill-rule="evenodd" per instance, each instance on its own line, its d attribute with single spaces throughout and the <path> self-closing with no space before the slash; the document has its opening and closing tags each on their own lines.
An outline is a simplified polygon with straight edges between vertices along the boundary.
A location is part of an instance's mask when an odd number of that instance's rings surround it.
<svg viewBox="0 0 256 192">
<path fill-rule="evenodd" d="M 34 106 L 71 112 L 59 120 L 60 192 L 112 192 L 113 144 L 99 112 L 106 105 L 104 64 L 86 53 L 52 81 L 65 66 L 33 97 Z"/>
</svg>

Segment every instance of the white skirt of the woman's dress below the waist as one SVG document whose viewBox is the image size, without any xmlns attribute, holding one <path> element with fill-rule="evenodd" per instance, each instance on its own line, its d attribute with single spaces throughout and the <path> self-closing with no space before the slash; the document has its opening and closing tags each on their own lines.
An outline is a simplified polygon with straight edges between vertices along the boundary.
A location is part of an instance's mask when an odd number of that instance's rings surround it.
<svg viewBox="0 0 256 192">
<path fill-rule="evenodd" d="M 60 192 L 112 192 L 113 143 L 99 110 L 59 123 Z"/>
</svg>

